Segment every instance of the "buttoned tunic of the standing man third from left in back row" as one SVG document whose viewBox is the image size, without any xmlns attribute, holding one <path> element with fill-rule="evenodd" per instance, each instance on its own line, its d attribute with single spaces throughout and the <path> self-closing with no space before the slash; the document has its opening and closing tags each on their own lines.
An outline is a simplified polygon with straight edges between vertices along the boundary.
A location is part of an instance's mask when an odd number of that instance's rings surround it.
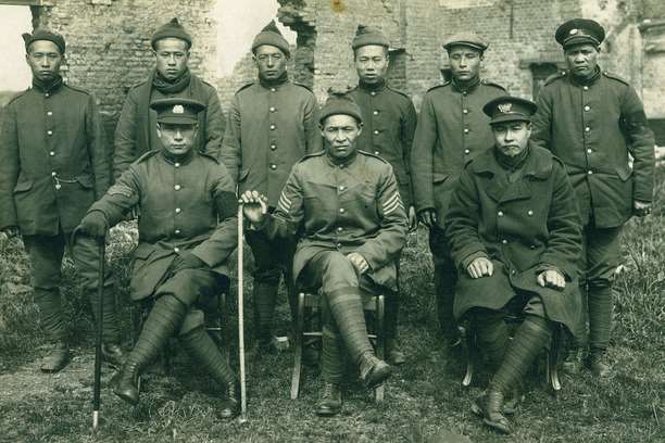
<svg viewBox="0 0 665 443">
<path fill-rule="evenodd" d="M 258 190 L 277 206 L 293 164 L 321 150 L 316 112 L 314 94 L 290 81 L 253 83 L 236 92 L 219 159 L 239 193 Z"/>
</svg>

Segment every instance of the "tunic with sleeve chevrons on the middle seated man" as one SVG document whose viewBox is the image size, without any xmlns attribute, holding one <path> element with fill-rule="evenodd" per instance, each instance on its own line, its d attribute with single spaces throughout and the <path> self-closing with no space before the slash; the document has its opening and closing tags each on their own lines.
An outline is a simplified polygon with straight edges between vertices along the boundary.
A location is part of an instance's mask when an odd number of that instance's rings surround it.
<svg viewBox="0 0 665 443">
<path fill-rule="evenodd" d="M 357 252 L 369 264 L 372 281 L 394 289 L 407 220 L 388 163 L 359 151 L 335 164 L 321 152 L 293 166 L 264 229 L 271 238 L 298 235 L 294 280 L 323 251 Z"/>
</svg>

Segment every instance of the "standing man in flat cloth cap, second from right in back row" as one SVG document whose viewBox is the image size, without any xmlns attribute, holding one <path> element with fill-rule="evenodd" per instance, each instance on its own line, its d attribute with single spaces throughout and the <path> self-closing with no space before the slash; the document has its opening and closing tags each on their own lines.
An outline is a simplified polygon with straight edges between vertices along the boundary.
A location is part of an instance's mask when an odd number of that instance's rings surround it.
<svg viewBox="0 0 665 443">
<path fill-rule="evenodd" d="M 442 227 L 463 165 L 492 145 L 489 118 L 482 114 L 482 106 L 505 90 L 480 79 L 488 43 L 478 36 L 455 35 L 443 48 L 448 51 L 452 78 L 431 88 L 423 98 L 411 152 L 411 174 L 418 219 L 429 228 L 439 324 L 444 340 L 454 346 L 460 343 L 452 315 L 457 276 Z"/>
</svg>

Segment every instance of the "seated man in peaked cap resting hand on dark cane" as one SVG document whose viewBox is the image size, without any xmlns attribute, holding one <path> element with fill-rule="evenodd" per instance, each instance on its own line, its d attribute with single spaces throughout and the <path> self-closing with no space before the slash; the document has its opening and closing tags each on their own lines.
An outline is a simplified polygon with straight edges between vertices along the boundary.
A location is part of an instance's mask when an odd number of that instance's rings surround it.
<svg viewBox="0 0 665 443">
<path fill-rule="evenodd" d="M 205 331 L 201 308 L 221 291 L 238 242 L 233 180 L 214 157 L 195 149 L 203 104 L 173 98 L 150 106 L 158 113 L 163 149 L 133 163 L 79 226 L 101 237 L 128 208 L 137 205 L 141 214 L 130 293 L 134 301 L 151 299 L 153 305 L 122 371 L 112 380 L 113 392 L 137 404 L 138 376 L 177 333 L 197 364 L 226 391 L 228 401 L 218 415 L 229 418 L 238 413 L 237 378 Z"/>
</svg>

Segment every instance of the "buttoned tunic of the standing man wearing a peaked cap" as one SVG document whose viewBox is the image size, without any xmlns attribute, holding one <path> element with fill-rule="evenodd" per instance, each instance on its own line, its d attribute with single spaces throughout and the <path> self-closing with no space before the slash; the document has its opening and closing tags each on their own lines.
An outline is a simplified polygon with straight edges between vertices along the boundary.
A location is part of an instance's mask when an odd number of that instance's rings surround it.
<svg viewBox="0 0 665 443">
<path fill-rule="evenodd" d="M 642 102 L 624 79 L 606 72 L 585 84 L 566 72 L 551 77 L 538 98 L 531 139 L 565 163 L 584 225 L 593 217 L 598 228 L 622 226 L 633 200 L 652 200 L 655 142 Z"/>
</svg>

